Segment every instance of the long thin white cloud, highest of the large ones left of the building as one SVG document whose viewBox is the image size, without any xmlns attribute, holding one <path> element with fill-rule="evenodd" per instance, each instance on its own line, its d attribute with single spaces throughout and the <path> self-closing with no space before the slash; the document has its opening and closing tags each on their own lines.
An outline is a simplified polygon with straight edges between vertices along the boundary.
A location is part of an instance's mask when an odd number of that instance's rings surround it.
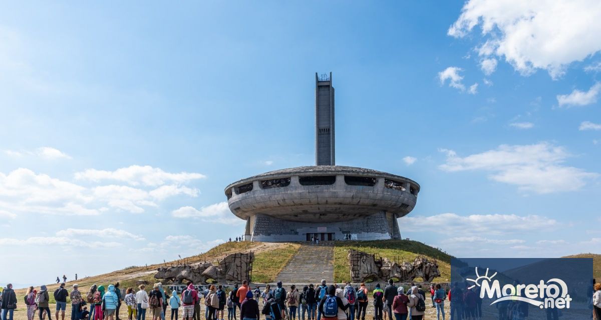
<svg viewBox="0 0 601 320">
<path fill-rule="evenodd" d="M 87 169 L 75 174 L 77 180 L 89 180 L 99 182 L 102 180 L 114 180 L 128 183 L 132 186 L 162 186 L 166 183 L 188 183 L 192 180 L 206 178 L 195 172 L 180 172 L 178 174 L 165 172 L 160 168 L 151 166 L 129 166 L 115 171 L 103 171 Z"/>
</svg>

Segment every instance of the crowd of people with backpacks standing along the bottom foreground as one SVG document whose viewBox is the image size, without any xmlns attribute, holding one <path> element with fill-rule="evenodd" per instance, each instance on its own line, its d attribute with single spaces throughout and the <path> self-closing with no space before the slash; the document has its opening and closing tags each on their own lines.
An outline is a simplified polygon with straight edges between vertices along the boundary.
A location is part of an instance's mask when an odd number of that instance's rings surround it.
<svg viewBox="0 0 601 320">
<path fill-rule="evenodd" d="M 392 280 L 384 289 L 376 284 L 373 291 L 368 291 L 365 283 L 339 286 L 328 285 L 326 280 L 301 289 L 291 285 L 288 291 L 281 282 L 275 288 L 266 285 L 263 290 L 258 287 L 252 290 L 245 280 L 240 286 L 235 284 L 231 290 L 221 285 L 197 290 L 194 283 L 188 282 L 181 292 L 177 289 L 168 292 L 159 282 L 150 291 L 146 291 L 145 285 L 140 285 L 138 291 L 127 288 L 124 297 L 121 297 L 119 287 L 119 283 L 108 285 L 106 289 L 103 285 L 92 285 L 87 292 L 82 292 L 75 284 L 69 292 L 66 284 L 61 283 L 53 292 L 56 303 L 54 317 L 56 320 L 65 319 L 68 297 L 71 320 L 121 320 L 122 303 L 127 306 L 127 320 L 146 320 L 147 312 L 152 320 L 165 320 L 167 307 L 171 311 L 171 320 L 178 320 L 180 316 L 184 320 L 201 320 L 203 304 L 204 320 L 225 320 L 225 309 L 227 320 L 260 320 L 261 316 L 266 320 L 365 320 L 370 301 L 374 320 L 423 320 L 426 304 L 436 308 L 437 320 L 445 320 L 447 299 L 450 301 L 451 320 L 479 320 L 482 317 L 479 287 L 462 289 L 457 283 L 451 284 L 448 291 L 440 284 L 431 285 L 428 303 L 421 285 L 411 283 L 405 292 L 403 286 L 395 286 Z M 591 289 L 594 290 L 591 296 L 592 317 L 601 320 L 601 283 L 594 283 Z M 30 286 L 23 300 L 28 320 L 34 320 L 36 314 L 39 320 L 52 320 L 46 286 L 39 289 Z M 17 297 L 12 285 L 0 288 L 0 306 L 1 320 L 13 320 Z M 499 320 L 528 317 L 528 304 L 519 301 L 502 301 L 496 304 L 496 310 Z M 547 319 L 558 319 L 557 309 L 546 309 L 546 313 Z"/>
</svg>

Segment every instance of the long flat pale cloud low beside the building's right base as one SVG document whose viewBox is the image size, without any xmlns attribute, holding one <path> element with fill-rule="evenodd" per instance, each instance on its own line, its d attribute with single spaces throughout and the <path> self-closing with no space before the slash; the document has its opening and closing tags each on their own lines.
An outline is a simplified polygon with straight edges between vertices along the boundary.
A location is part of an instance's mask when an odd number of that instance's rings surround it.
<svg viewBox="0 0 601 320">
<path fill-rule="evenodd" d="M 463 232 L 504 235 L 531 231 L 553 231 L 560 228 L 557 220 L 548 217 L 516 214 L 470 214 L 442 213 L 427 217 L 403 217 L 401 231 L 436 230 L 442 234 L 457 235 Z"/>
</svg>

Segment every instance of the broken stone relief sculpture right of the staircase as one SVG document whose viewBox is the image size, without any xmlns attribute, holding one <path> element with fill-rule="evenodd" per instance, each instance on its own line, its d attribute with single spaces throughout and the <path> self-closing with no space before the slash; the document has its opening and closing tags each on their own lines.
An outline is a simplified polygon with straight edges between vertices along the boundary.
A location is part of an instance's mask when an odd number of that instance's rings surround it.
<svg viewBox="0 0 601 320">
<path fill-rule="evenodd" d="M 398 282 L 413 282 L 416 277 L 421 277 L 424 282 L 432 282 L 435 277 L 441 276 L 438 263 L 425 256 L 417 256 L 413 262 L 398 264 L 386 258 L 358 250 L 349 250 L 350 276 L 352 282 L 387 281 L 398 279 Z"/>
</svg>

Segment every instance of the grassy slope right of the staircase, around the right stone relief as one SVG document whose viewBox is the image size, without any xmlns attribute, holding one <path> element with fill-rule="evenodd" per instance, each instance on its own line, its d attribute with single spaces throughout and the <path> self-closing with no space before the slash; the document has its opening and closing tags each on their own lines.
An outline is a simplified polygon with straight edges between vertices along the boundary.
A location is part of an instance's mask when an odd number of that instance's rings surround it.
<svg viewBox="0 0 601 320">
<path fill-rule="evenodd" d="M 395 261 L 412 262 L 418 255 L 424 255 L 438 261 L 441 277 L 437 282 L 451 280 L 451 256 L 439 249 L 413 240 L 376 240 L 376 241 L 338 241 L 334 247 L 334 280 L 346 282 L 350 276 L 348 250 L 355 249 L 369 253 L 378 253 L 382 258 Z M 416 278 L 416 281 L 421 279 Z"/>
</svg>

